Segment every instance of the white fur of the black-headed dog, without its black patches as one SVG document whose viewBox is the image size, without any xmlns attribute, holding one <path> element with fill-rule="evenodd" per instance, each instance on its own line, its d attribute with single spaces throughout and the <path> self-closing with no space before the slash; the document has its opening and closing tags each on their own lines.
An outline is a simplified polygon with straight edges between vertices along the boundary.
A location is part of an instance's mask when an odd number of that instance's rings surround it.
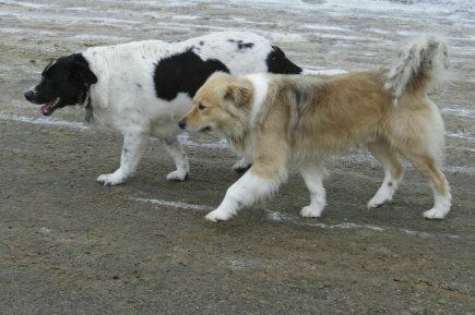
<svg viewBox="0 0 475 315">
<path fill-rule="evenodd" d="M 229 43 L 229 38 L 252 43 L 252 50 L 236 50 L 236 44 Z M 120 168 L 114 173 L 99 175 L 99 182 L 116 185 L 133 175 L 150 136 L 162 140 L 164 148 L 175 160 L 177 170 L 167 179 L 185 180 L 189 167 L 177 140 L 181 132 L 177 122 L 193 102 L 185 93 L 171 101 L 157 98 L 153 74 L 161 59 L 191 47 L 200 47 L 194 52 L 201 59 L 217 59 L 234 75 L 266 72 L 265 60 L 272 50 L 265 38 L 253 33 L 223 32 L 179 43 L 135 41 L 94 47 L 83 52 L 98 78 L 90 88 L 94 122 L 117 130 L 124 136 Z M 136 88 L 138 85 L 141 89 Z M 84 100 L 81 106 L 86 104 L 87 100 Z M 168 146 L 168 143 L 171 145 Z"/>
</svg>

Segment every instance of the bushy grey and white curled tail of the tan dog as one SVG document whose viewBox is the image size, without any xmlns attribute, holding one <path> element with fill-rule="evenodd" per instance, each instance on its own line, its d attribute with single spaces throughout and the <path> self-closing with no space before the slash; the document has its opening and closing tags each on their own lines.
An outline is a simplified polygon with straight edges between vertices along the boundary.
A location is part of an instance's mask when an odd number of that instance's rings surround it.
<svg viewBox="0 0 475 315">
<path fill-rule="evenodd" d="M 399 98 L 406 92 L 415 93 L 420 88 L 428 92 L 447 82 L 449 64 L 443 40 L 423 36 L 409 41 L 393 63 L 384 84 L 384 88 L 392 92 L 393 105 L 397 106 Z"/>
</svg>

